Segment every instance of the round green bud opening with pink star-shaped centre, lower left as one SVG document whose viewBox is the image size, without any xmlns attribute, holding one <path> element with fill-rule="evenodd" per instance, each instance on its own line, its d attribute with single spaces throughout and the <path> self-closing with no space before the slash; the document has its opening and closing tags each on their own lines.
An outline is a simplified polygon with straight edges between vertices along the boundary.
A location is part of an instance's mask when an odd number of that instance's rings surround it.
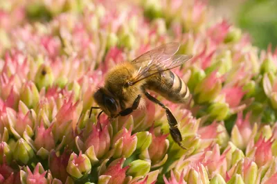
<svg viewBox="0 0 277 184">
<path fill-rule="evenodd" d="M 91 172 L 91 162 L 85 154 L 82 154 L 82 151 L 80 151 L 79 156 L 72 153 L 66 171 L 74 178 L 82 178 L 84 174 Z"/>
</svg>

